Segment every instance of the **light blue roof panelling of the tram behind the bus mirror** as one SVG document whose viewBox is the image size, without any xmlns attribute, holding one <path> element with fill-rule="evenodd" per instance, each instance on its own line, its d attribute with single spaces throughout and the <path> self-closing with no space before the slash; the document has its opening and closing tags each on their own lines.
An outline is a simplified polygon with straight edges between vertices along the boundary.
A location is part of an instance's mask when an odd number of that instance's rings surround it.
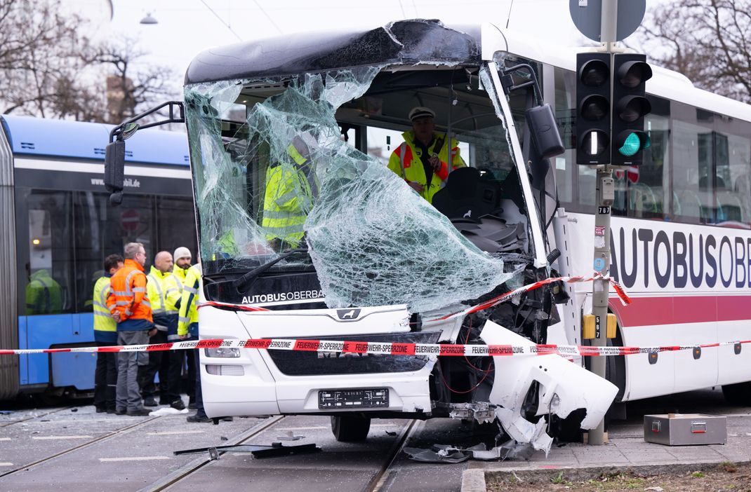
<svg viewBox="0 0 751 492">
<path fill-rule="evenodd" d="M 104 159 L 112 125 L 2 115 L 0 122 L 14 154 Z M 128 162 L 189 166 L 185 133 L 140 130 L 128 139 Z"/>
</svg>

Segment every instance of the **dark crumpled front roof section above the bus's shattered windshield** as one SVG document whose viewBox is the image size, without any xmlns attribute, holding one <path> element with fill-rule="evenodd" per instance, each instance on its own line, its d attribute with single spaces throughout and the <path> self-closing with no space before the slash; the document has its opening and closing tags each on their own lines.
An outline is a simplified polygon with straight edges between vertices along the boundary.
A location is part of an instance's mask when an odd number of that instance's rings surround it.
<svg viewBox="0 0 751 492">
<path fill-rule="evenodd" d="M 368 65 L 478 63 L 479 26 L 400 20 L 357 31 L 289 34 L 220 46 L 193 58 L 185 84 Z"/>
</svg>

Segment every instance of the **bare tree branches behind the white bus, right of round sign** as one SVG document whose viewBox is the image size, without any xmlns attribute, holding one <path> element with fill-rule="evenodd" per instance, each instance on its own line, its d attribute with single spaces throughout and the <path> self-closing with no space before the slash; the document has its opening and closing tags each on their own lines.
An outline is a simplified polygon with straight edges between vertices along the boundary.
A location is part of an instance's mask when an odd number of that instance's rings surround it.
<svg viewBox="0 0 751 492">
<path fill-rule="evenodd" d="M 751 0 L 688 0 L 650 10 L 644 52 L 695 86 L 751 103 Z"/>
</svg>

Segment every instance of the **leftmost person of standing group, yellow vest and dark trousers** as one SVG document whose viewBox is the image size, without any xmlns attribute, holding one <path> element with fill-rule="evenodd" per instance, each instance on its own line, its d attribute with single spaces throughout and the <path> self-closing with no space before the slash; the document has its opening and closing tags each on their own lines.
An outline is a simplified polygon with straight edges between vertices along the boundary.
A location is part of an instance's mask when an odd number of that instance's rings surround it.
<svg viewBox="0 0 751 492">
<path fill-rule="evenodd" d="M 117 344 L 117 322 L 107 308 L 110 295 L 110 278 L 122 268 L 122 257 L 110 254 L 104 258 L 104 275 L 94 284 L 92 306 L 94 308 L 94 341 L 97 347 Z M 94 406 L 97 413 L 115 413 L 115 390 L 117 386 L 117 354 L 98 352 L 94 372 Z"/>
</svg>

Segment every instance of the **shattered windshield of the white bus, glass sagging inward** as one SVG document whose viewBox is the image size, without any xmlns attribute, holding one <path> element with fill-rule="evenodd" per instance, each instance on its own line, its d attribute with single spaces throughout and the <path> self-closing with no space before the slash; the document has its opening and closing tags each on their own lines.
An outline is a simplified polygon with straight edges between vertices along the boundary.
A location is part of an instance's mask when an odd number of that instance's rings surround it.
<svg viewBox="0 0 751 492">
<path fill-rule="evenodd" d="M 504 254 L 532 246 L 483 70 L 366 67 L 186 86 L 204 275 L 243 275 L 289 254 L 260 275 L 314 272 L 329 307 L 413 312 L 508 281 L 516 266 Z M 427 146 L 410 133 L 415 107 L 435 119 Z M 412 148 L 423 162 L 394 157 Z M 424 166 L 424 189 L 409 166 Z"/>
</svg>

